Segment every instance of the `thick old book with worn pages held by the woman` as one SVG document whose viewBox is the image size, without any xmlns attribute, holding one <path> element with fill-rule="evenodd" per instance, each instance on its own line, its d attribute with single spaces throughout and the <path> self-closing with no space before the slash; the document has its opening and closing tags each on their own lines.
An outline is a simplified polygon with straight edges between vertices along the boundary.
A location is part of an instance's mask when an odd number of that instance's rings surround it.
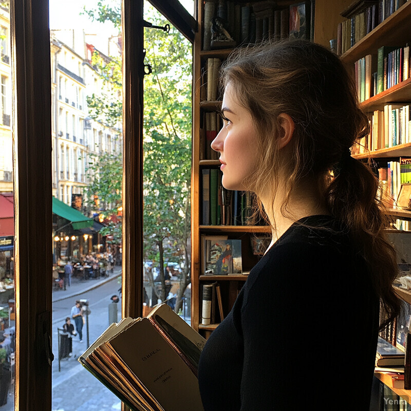
<svg viewBox="0 0 411 411">
<path fill-rule="evenodd" d="M 201 411 L 197 369 L 206 340 L 168 305 L 111 324 L 79 357 L 135 411 Z"/>
</svg>

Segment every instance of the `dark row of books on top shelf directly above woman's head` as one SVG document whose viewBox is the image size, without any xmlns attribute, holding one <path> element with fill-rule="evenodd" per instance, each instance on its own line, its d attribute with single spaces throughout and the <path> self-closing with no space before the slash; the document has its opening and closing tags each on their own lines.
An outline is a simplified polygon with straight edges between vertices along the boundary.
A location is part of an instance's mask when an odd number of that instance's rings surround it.
<svg viewBox="0 0 411 411">
<path fill-rule="evenodd" d="M 275 1 L 236 3 L 218 0 L 204 3 L 203 50 L 234 47 L 266 39 L 304 38 L 313 40 L 315 1 L 279 8 Z M 219 17 L 231 41 L 215 38 Z M 214 39 L 214 40 L 213 40 Z M 226 43 L 226 44 L 225 44 Z"/>
</svg>

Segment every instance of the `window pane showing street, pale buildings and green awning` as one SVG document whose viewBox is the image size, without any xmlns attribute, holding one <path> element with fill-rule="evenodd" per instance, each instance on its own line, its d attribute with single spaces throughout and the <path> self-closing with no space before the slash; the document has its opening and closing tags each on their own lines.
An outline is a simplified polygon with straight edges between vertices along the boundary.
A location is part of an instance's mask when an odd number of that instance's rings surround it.
<svg viewBox="0 0 411 411">
<path fill-rule="evenodd" d="M 120 1 L 105 4 L 111 21 L 100 23 L 97 1 L 49 1 L 56 411 L 121 408 L 77 361 L 121 318 Z"/>
</svg>

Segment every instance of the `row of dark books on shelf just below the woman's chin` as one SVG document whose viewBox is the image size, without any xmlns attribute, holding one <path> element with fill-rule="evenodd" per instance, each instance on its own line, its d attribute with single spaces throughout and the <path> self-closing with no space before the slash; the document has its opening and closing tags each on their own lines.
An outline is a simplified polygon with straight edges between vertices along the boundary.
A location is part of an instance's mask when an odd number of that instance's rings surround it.
<svg viewBox="0 0 411 411">
<path fill-rule="evenodd" d="M 255 196 L 231 191 L 221 184 L 218 169 L 202 169 L 202 220 L 204 226 L 246 226 L 252 218 Z M 260 222 L 261 224 L 262 222 Z"/>
</svg>

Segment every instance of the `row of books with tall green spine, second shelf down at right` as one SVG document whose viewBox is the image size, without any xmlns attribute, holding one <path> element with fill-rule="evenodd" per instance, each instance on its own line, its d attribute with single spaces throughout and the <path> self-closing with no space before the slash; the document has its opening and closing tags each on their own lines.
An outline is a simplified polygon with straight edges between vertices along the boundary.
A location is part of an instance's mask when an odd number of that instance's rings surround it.
<svg viewBox="0 0 411 411">
<path fill-rule="evenodd" d="M 409 45 L 383 46 L 377 55 L 367 54 L 354 63 L 359 101 L 387 90 L 409 78 Z"/>
</svg>

